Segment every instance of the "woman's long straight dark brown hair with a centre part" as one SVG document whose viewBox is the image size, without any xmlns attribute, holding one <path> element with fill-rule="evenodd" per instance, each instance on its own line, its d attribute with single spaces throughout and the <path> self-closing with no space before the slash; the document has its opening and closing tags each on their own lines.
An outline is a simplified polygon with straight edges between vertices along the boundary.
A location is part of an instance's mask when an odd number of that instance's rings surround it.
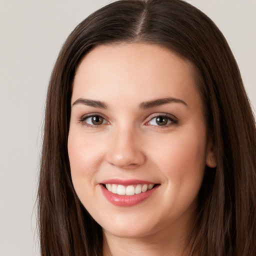
<svg viewBox="0 0 256 256">
<path fill-rule="evenodd" d="M 206 168 L 191 255 L 256 255 L 256 132 L 227 42 L 201 11 L 181 0 L 120 0 L 83 20 L 68 36 L 51 74 L 38 191 L 41 255 L 100 256 L 102 230 L 79 201 L 67 137 L 71 86 L 82 57 L 99 44 L 164 46 L 191 61 L 217 167 Z"/>
</svg>

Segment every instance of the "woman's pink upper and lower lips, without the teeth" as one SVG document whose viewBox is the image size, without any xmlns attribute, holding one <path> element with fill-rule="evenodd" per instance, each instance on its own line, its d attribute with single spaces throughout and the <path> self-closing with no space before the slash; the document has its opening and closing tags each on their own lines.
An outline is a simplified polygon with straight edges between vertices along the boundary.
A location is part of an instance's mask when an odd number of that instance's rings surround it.
<svg viewBox="0 0 256 256">
<path fill-rule="evenodd" d="M 112 193 L 108 191 L 103 185 L 104 184 L 121 184 L 121 185 L 132 185 L 132 184 L 153 184 L 152 182 L 148 181 L 142 181 L 142 180 L 135 180 L 135 179 L 130 179 L 130 180 L 119 180 L 119 179 L 108 179 L 100 182 L 100 188 L 105 196 L 105 198 L 111 202 L 113 205 L 116 206 L 133 206 L 136 205 L 145 199 L 147 199 L 149 196 L 154 193 L 155 189 L 157 189 L 158 186 L 153 187 L 150 190 L 147 190 L 145 192 L 141 192 L 139 194 L 134 194 L 134 195 L 119 195 Z"/>
</svg>

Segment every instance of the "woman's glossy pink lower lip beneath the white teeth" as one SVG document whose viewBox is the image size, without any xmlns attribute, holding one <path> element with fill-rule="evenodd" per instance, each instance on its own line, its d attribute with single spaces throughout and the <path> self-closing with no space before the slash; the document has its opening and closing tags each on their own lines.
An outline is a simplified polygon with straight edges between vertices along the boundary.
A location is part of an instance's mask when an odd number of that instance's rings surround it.
<svg viewBox="0 0 256 256">
<path fill-rule="evenodd" d="M 150 190 L 147 190 L 145 192 L 141 192 L 139 194 L 134 195 L 119 195 L 114 194 L 110 191 L 108 191 L 103 185 L 100 185 L 101 191 L 105 198 L 111 202 L 113 205 L 116 206 L 133 206 L 136 205 L 145 199 L 147 199 L 149 196 L 152 195 L 152 193 L 155 191 L 155 189 L 158 187 L 151 188 Z"/>
</svg>

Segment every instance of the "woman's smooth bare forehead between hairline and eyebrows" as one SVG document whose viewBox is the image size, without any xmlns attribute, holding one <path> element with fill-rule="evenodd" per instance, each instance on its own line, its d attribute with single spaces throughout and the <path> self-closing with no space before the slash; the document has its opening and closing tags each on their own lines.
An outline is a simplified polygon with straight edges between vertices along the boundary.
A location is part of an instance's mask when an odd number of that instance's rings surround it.
<svg viewBox="0 0 256 256">
<path fill-rule="evenodd" d="M 79 63 L 72 101 L 78 97 L 131 100 L 155 97 L 198 97 L 190 61 L 158 45 L 126 43 L 99 45 Z M 139 96 L 138 96 L 139 95 Z"/>
</svg>

